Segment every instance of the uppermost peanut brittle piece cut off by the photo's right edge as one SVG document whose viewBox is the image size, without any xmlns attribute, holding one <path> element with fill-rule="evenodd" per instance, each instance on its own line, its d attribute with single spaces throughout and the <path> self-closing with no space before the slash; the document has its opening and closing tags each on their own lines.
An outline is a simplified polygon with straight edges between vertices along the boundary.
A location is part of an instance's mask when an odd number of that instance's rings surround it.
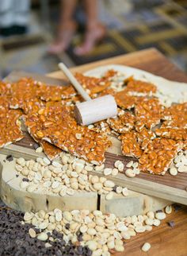
<svg viewBox="0 0 187 256">
<path fill-rule="evenodd" d="M 171 128 L 187 128 L 187 103 L 174 104 L 163 112 L 163 126 Z"/>
</svg>

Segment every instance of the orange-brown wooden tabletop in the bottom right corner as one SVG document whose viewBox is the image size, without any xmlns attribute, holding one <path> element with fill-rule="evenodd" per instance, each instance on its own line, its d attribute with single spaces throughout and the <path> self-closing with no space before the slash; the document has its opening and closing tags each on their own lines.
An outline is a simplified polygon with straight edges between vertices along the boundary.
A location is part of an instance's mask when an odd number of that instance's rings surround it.
<svg viewBox="0 0 187 256">
<path fill-rule="evenodd" d="M 170 221 L 174 221 L 174 227 L 169 227 Z M 187 208 L 172 212 L 162 220 L 160 226 L 126 241 L 124 252 L 115 256 L 186 256 Z M 141 250 L 144 242 L 151 244 L 151 249 L 147 252 Z"/>
</svg>

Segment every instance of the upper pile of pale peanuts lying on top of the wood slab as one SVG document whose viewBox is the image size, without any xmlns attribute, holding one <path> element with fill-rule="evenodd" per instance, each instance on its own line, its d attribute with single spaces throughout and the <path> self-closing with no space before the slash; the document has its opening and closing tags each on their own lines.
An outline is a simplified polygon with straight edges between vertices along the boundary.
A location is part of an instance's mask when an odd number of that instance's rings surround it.
<svg viewBox="0 0 187 256">
<path fill-rule="evenodd" d="M 51 162 L 47 157 L 38 157 L 36 161 L 18 158 L 15 169 L 23 176 L 20 187 L 28 192 L 44 192 L 59 196 L 73 196 L 76 191 L 92 191 L 106 195 L 106 200 L 113 199 L 115 193 L 128 196 L 128 188 L 116 186 L 105 176 L 89 174 L 94 169 L 97 172 L 103 171 L 105 175 L 112 172 L 113 175 L 117 175 L 118 170 L 124 170 L 122 162 L 116 161 L 114 169 L 105 169 L 105 165 L 94 166 L 68 153 L 61 153 L 61 161 Z M 111 173 L 107 173 L 110 170 Z"/>
</svg>

